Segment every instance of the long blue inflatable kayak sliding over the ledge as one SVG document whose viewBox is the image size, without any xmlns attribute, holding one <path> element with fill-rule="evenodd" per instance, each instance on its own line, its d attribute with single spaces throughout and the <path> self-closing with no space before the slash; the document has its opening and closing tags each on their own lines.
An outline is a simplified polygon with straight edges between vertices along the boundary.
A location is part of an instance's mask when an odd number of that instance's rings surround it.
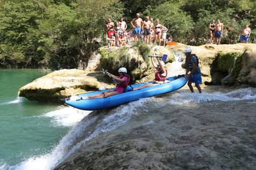
<svg viewBox="0 0 256 170">
<path fill-rule="evenodd" d="M 81 97 L 85 97 L 88 95 L 95 95 L 105 91 L 113 90 L 113 89 L 106 89 L 104 91 L 95 91 L 95 92 L 88 92 L 85 94 L 79 94 L 72 96 L 70 98 L 62 99 L 62 102 L 66 103 L 75 108 L 79 108 L 82 110 L 101 110 L 105 108 L 116 107 L 118 105 L 122 105 L 124 103 L 132 102 L 134 100 L 139 100 L 145 97 L 151 97 L 154 95 L 164 94 L 167 92 L 173 92 L 177 89 L 180 89 L 187 83 L 186 76 L 173 76 L 168 78 L 169 82 L 145 87 L 135 91 L 127 91 L 121 94 L 112 95 L 106 98 L 98 98 L 98 99 L 81 99 Z M 150 81 L 148 83 L 152 83 Z M 132 87 L 140 87 L 148 83 L 140 83 L 140 84 L 133 84 Z"/>
</svg>

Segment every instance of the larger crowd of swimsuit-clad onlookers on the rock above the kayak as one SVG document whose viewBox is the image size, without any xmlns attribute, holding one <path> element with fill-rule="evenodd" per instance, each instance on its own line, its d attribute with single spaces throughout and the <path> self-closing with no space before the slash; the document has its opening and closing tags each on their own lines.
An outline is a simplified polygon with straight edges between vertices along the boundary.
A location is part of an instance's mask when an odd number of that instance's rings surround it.
<svg viewBox="0 0 256 170">
<path fill-rule="evenodd" d="M 156 23 L 154 23 L 153 18 L 148 16 L 145 17 L 145 20 L 142 20 L 138 13 L 130 24 L 133 29 L 127 31 L 127 23 L 123 18 L 120 18 L 116 25 L 111 21 L 111 18 L 108 19 L 108 23 L 106 23 L 108 48 L 112 46 L 125 46 L 131 41 L 143 41 L 146 44 L 158 41 L 159 46 L 161 46 L 162 41 L 163 46 L 166 46 L 167 41 L 172 41 L 171 36 L 169 39 L 166 39 L 168 28 L 162 25 L 159 20 L 156 20 Z"/>
</svg>

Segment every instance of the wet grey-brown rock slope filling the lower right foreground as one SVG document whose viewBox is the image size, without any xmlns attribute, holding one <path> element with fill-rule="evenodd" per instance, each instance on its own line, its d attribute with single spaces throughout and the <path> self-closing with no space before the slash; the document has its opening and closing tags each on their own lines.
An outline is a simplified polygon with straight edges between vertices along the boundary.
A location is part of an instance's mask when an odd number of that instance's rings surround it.
<svg viewBox="0 0 256 170">
<path fill-rule="evenodd" d="M 88 140 L 54 169 L 255 168 L 256 100 L 172 105 L 175 96 L 146 100 L 126 124 Z"/>
</svg>

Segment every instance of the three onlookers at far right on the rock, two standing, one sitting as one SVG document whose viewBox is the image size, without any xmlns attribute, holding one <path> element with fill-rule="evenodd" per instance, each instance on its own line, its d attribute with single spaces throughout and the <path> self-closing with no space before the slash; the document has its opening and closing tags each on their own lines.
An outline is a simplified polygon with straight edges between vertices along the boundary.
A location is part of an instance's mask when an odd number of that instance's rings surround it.
<svg viewBox="0 0 256 170">
<path fill-rule="evenodd" d="M 223 23 L 221 23 L 220 20 L 217 20 L 217 23 L 215 23 L 215 20 L 211 20 L 211 23 L 209 25 L 210 43 L 213 43 L 213 41 L 215 41 L 216 44 L 220 44 L 221 38 L 223 37 L 223 28 Z M 227 31 L 230 30 L 231 28 L 227 28 Z M 247 24 L 244 25 L 244 28 L 239 31 L 239 33 L 241 33 L 241 35 L 239 36 L 239 42 L 247 43 L 251 34 L 249 26 Z"/>
</svg>

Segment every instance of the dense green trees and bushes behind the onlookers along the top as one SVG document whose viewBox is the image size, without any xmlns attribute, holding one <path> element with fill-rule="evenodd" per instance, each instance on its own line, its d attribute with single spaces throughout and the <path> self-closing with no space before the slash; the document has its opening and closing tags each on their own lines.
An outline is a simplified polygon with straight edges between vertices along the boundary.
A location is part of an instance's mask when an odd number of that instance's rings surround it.
<svg viewBox="0 0 256 170">
<path fill-rule="evenodd" d="M 254 0 L 0 0 L 0 68 L 77 68 L 102 44 L 105 23 L 139 12 L 160 19 L 174 41 L 200 45 L 211 19 L 224 23 L 224 43 L 236 43 L 245 23 L 256 39 Z M 229 32 L 226 33 L 226 28 Z M 147 61 L 147 48 L 138 46 Z"/>
</svg>

